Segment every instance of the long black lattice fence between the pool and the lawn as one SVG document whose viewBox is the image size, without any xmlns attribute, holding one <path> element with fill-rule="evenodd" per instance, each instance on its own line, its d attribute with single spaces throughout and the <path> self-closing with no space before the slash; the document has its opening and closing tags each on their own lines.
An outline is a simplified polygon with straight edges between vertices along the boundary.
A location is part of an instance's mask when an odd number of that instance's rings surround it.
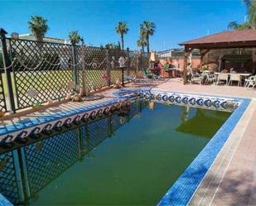
<svg viewBox="0 0 256 206">
<path fill-rule="evenodd" d="M 63 99 L 84 87 L 86 92 L 122 80 L 147 68 L 148 55 L 130 50 L 73 46 L 12 39 L 1 34 L 4 72 L 0 77 L 0 109 L 15 112 L 36 103 Z M 0 54 L 1 55 L 1 54 Z"/>
</svg>

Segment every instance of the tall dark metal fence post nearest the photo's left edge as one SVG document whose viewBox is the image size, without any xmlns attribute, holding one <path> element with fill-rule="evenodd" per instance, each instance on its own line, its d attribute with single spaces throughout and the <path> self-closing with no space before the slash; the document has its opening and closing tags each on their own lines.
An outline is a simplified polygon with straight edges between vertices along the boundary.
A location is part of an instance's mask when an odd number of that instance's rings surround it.
<svg viewBox="0 0 256 206">
<path fill-rule="evenodd" d="M 4 72 L 7 77 L 8 100 L 11 108 L 11 113 L 15 113 L 15 102 L 14 102 L 14 95 L 13 95 L 13 89 L 12 89 L 12 76 L 11 76 L 12 67 L 8 64 L 6 35 L 7 35 L 7 31 L 0 28 L 0 38 L 2 42 L 2 61 L 3 61 Z"/>
</svg>

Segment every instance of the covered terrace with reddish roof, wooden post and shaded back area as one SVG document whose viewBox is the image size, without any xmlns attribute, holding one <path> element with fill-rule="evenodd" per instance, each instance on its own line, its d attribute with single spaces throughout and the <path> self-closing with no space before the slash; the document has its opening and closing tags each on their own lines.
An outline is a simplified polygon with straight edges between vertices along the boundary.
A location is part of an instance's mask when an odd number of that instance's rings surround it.
<svg viewBox="0 0 256 206">
<path fill-rule="evenodd" d="M 237 69 L 239 72 L 255 74 L 256 70 L 256 31 L 222 31 L 210 36 L 203 36 L 180 43 L 185 47 L 184 84 L 186 84 L 186 68 L 191 51 L 200 50 L 200 69 L 207 63 L 218 65 L 222 69 Z"/>
</svg>

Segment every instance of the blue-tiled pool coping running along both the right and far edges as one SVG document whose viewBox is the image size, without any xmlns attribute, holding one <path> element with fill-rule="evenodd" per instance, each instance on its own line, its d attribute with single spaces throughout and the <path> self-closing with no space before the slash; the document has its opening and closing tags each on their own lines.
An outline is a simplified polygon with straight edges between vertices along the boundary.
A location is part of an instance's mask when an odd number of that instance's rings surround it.
<svg viewBox="0 0 256 206">
<path fill-rule="evenodd" d="M 229 139 L 231 132 L 233 132 L 234 127 L 236 127 L 240 118 L 244 114 L 245 110 L 248 108 L 251 98 L 237 98 L 237 97 L 225 97 L 221 95 L 211 95 L 211 94 L 200 94 L 200 93 L 182 93 L 174 92 L 171 90 L 155 90 L 155 89 L 124 89 L 134 92 L 142 93 L 176 93 L 184 95 L 196 95 L 202 97 L 213 97 L 213 98 L 228 98 L 239 101 L 239 106 L 234 110 L 226 122 L 220 127 L 219 131 L 215 133 L 214 137 L 206 144 L 206 146 L 200 151 L 196 158 L 191 162 L 191 164 L 186 168 L 186 170 L 180 175 L 178 180 L 172 184 L 171 188 L 167 190 L 167 193 L 162 197 L 157 205 L 186 205 L 189 203 L 196 189 L 200 185 L 200 182 L 204 179 L 210 166 L 213 164 L 216 156 L 219 154 L 225 142 Z M 123 90 L 120 89 L 114 94 L 118 94 Z M 123 98 L 129 98 L 133 95 L 125 95 Z M 114 100 L 114 101 L 113 101 Z M 118 102 L 120 97 L 110 100 L 109 102 Z M 104 105 L 105 106 L 105 105 Z M 77 111 L 74 111 L 77 112 Z M 85 112 L 85 110 L 83 111 Z M 193 178 L 189 178 L 193 176 Z M 0 194 L 0 206 L 12 205 L 2 194 Z"/>
</svg>

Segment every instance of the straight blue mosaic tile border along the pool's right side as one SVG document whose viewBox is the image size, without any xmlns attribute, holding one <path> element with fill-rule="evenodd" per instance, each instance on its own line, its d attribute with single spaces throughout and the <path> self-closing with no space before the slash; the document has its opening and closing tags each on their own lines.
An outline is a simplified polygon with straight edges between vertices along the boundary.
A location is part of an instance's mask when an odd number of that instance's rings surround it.
<svg viewBox="0 0 256 206">
<path fill-rule="evenodd" d="M 244 98 L 239 108 L 228 118 L 220 130 L 208 142 L 199 155 L 191 162 L 185 172 L 163 196 L 158 205 L 186 205 L 189 203 L 192 195 L 196 191 L 201 180 L 212 165 L 215 157 L 220 152 L 225 141 L 229 138 L 230 133 L 239 122 L 245 109 L 249 106 L 251 99 Z"/>
</svg>

